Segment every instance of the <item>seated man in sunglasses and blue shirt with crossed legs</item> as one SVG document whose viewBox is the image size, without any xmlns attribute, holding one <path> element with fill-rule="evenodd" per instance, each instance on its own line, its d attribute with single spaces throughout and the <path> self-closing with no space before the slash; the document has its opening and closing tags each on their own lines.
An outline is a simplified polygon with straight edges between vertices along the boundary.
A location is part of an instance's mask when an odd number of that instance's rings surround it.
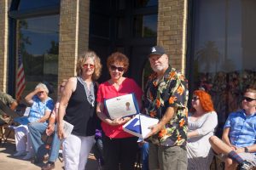
<svg viewBox="0 0 256 170">
<path fill-rule="evenodd" d="M 242 110 L 230 113 L 224 125 L 222 140 L 210 138 L 212 150 L 224 154 L 225 169 L 251 169 L 256 166 L 256 89 L 247 88 Z"/>
</svg>

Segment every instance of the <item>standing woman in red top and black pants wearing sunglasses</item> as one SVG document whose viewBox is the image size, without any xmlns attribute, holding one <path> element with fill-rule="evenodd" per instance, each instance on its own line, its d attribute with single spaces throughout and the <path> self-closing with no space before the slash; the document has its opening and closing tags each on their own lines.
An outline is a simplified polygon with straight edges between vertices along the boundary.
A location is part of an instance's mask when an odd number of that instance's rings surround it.
<svg viewBox="0 0 256 170">
<path fill-rule="evenodd" d="M 139 105 L 143 91 L 131 78 L 123 77 L 129 66 L 125 54 L 113 53 L 107 61 L 110 79 L 100 84 L 97 92 L 97 116 L 102 120 L 103 158 L 106 170 L 134 169 L 137 153 L 137 137 L 125 133 L 122 126 L 131 117 L 119 117 L 111 120 L 104 109 L 104 99 L 111 99 L 125 94 L 134 93 Z"/>
</svg>

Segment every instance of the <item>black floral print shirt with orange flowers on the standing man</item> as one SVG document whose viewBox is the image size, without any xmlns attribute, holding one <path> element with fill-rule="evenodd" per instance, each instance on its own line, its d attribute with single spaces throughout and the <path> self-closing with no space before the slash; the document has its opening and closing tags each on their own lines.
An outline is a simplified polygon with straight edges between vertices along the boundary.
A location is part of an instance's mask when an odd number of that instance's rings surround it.
<svg viewBox="0 0 256 170">
<path fill-rule="evenodd" d="M 176 113 L 158 134 L 148 140 L 164 146 L 184 146 L 187 141 L 188 125 L 188 85 L 185 77 L 169 66 L 164 77 L 156 82 L 156 73 L 149 78 L 145 88 L 144 102 L 146 114 L 161 119 L 168 107 L 174 107 Z"/>
</svg>

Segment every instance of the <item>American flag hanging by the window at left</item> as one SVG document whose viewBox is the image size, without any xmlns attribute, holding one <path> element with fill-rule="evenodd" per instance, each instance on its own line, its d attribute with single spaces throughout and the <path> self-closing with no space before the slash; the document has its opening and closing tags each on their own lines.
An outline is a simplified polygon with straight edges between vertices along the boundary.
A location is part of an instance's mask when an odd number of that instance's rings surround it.
<svg viewBox="0 0 256 170">
<path fill-rule="evenodd" d="M 18 71 L 16 74 L 16 99 L 20 100 L 21 94 L 25 89 L 25 74 L 22 63 L 20 47 L 18 48 Z"/>
</svg>

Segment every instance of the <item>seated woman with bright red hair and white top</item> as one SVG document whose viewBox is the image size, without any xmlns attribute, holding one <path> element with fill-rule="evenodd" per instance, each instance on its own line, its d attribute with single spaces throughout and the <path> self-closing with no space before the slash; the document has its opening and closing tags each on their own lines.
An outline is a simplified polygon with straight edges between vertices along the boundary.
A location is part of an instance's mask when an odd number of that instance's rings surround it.
<svg viewBox="0 0 256 170">
<path fill-rule="evenodd" d="M 195 90 L 188 117 L 188 169 L 210 169 L 212 150 L 209 138 L 218 125 L 210 94 Z"/>
</svg>

